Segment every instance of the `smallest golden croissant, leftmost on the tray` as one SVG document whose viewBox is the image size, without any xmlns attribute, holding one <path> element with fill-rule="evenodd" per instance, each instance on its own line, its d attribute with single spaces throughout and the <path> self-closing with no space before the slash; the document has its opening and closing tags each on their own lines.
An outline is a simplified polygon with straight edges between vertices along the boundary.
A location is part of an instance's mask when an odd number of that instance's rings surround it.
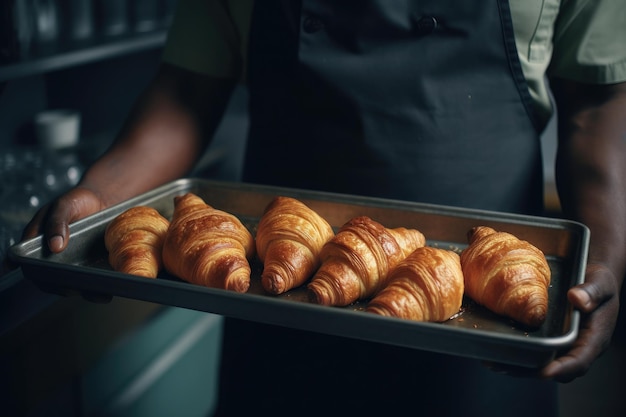
<svg viewBox="0 0 626 417">
<path fill-rule="evenodd" d="M 169 221 L 152 207 L 131 207 L 115 217 L 104 232 L 109 263 L 115 271 L 156 278 Z"/>
</svg>

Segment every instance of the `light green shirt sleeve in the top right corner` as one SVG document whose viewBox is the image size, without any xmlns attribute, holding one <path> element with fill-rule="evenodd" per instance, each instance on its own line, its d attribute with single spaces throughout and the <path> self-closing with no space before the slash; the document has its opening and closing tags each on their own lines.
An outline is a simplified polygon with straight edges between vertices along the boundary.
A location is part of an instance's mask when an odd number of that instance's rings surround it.
<svg viewBox="0 0 626 417">
<path fill-rule="evenodd" d="M 573 81 L 626 81 L 623 0 L 562 0 L 549 74 Z"/>
</svg>

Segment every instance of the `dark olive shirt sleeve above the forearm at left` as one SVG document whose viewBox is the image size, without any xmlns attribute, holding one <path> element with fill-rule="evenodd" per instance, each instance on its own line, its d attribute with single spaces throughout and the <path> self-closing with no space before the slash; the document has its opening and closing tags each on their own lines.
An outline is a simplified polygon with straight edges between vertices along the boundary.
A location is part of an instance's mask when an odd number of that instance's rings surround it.
<svg viewBox="0 0 626 417">
<path fill-rule="evenodd" d="M 252 0 L 178 0 L 163 61 L 219 78 L 245 77 Z"/>
</svg>

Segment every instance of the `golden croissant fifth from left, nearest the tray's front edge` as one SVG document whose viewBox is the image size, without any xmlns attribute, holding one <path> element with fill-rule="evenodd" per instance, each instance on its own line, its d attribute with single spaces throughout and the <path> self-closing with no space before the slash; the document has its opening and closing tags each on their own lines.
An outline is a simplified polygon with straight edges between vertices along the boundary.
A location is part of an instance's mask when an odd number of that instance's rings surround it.
<svg viewBox="0 0 626 417">
<path fill-rule="evenodd" d="M 442 322 L 461 309 L 463 290 L 459 255 L 424 246 L 389 273 L 387 285 L 365 310 L 408 320 Z"/>
</svg>

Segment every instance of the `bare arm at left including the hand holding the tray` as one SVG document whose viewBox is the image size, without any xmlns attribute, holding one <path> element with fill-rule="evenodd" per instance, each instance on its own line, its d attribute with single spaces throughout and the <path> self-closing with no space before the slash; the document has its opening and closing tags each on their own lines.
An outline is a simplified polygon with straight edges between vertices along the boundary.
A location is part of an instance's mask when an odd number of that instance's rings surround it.
<svg viewBox="0 0 626 417">
<path fill-rule="evenodd" d="M 139 97 L 119 137 L 80 183 L 43 207 L 24 238 L 44 233 L 58 253 L 69 224 L 189 172 L 219 125 L 232 80 L 162 64 Z"/>
</svg>

